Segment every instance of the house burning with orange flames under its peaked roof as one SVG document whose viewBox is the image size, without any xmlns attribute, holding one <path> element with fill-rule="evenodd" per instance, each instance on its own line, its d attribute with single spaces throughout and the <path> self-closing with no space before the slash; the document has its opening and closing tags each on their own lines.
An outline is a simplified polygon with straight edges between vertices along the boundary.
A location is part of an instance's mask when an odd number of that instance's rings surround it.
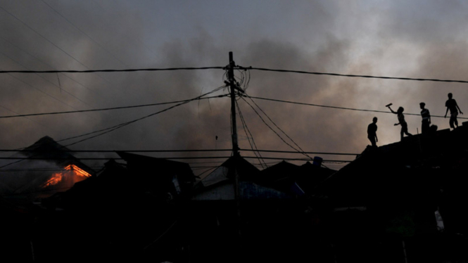
<svg viewBox="0 0 468 263">
<path fill-rule="evenodd" d="M 70 152 L 49 136 L 19 150 L 11 157 L 18 159 L 1 163 L 1 194 L 46 198 L 91 177 L 94 170 Z"/>
</svg>

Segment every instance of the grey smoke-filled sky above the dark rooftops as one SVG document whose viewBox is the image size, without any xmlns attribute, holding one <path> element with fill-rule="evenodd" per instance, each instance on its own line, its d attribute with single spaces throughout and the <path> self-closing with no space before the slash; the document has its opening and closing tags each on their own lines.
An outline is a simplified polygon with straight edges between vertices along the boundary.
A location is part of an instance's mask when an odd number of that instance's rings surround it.
<svg viewBox="0 0 468 263">
<path fill-rule="evenodd" d="M 467 8 L 462 1 L 1 1 L 0 68 L 225 66 L 232 51 L 236 64 L 244 67 L 466 80 Z M 179 101 L 222 86 L 223 74 L 223 70 L 2 74 L 0 115 Z M 241 77 L 240 72 L 236 76 Z M 386 110 L 385 105 L 393 103 L 395 108 L 403 106 L 405 113 L 419 113 L 424 101 L 432 115 L 444 115 L 449 92 L 462 110 L 467 109 L 466 89 L 466 84 L 251 70 L 246 92 L 367 110 Z M 223 89 L 215 95 L 226 93 Z M 238 103 L 258 148 L 291 150 L 244 100 Z M 369 144 L 367 124 L 374 116 L 379 118 L 378 145 L 399 140 L 400 128 L 393 126 L 396 115 L 255 103 L 306 151 L 362 152 Z M 0 148 L 22 148 L 46 135 L 65 139 L 167 107 L 1 119 Z M 230 148 L 229 110 L 229 98 L 194 101 L 71 148 Z M 420 132 L 421 117 L 408 115 L 406 120 L 411 133 Z M 241 121 L 237 123 L 240 147 L 251 148 Z M 448 129 L 448 119 L 434 117 L 433 124 Z M 169 155 L 194 156 L 155 156 Z"/>
</svg>

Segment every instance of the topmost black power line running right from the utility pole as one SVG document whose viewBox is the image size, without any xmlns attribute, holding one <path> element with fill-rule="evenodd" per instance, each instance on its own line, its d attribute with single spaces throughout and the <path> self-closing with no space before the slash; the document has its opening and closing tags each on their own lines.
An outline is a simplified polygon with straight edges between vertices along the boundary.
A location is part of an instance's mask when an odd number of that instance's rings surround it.
<svg viewBox="0 0 468 263">
<path fill-rule="evenodd" d="M 371 79 L 401 79 L 401 80 L 416 80 L 420 82 L 458 82 L 458 83 L 468 83 L 467 80 L 452 80 L 452 79 L 423 79 L 423 78 L 412 78 L 412 77 L 383 77 L 383 76 L 371 76 L 371 75 L 350 75 L 350 74 L 338 74 L 338 73 L 327 73 L 327 72 L 309 72 L 302 70 L 273 70 L 269 68 L 243 68 L 239 67 L 241 70 L 262 70 L 262 71 L 272 71 L 272 72 L 291 72 L 299 74 L 310 74 L 310 75 L 329 75 L 337 77 L 363 77 Z"/>
</svg>

